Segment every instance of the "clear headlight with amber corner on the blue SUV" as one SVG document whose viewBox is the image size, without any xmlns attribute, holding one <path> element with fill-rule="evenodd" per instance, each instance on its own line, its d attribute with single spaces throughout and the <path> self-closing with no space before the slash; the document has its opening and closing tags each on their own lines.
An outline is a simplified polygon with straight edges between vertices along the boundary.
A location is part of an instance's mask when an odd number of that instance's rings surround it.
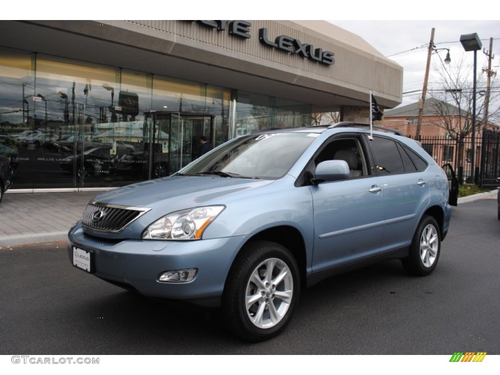
<svg viewBox="0 0 500 375">
<path fill-rule="evenodd" d="M 223 205 L 212 205 L 169 213 L 150 224 L 142 232 L 142 238 L 200 239 L 205 228 L 223 209 Z"/>
</svg>

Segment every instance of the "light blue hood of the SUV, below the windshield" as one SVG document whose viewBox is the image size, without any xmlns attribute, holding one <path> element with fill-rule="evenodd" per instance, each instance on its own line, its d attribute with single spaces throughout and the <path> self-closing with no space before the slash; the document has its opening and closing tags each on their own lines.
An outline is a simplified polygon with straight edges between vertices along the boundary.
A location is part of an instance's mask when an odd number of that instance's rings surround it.
<svg viewBox="0 0 500 375">
<path fill-rule="evenodd" d="M 213 199 L 272 182 L 274 180 L 220 176 L 169 176 L 109 190 L 92 200 L 134 207 L 158 207 L 166 200 L 175 198 L 169 202 L 170 206 L 174 201 L 175 205 L 186 208 L 208 204 Z"/>
</svg>

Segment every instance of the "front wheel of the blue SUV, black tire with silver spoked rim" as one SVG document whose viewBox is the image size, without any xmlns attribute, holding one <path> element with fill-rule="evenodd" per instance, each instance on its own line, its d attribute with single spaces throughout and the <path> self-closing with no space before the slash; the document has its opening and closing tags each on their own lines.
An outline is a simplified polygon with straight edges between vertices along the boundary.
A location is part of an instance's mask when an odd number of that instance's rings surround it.
<svg viewBox="0 0 500 375">
<path fill-rule="evenodd" d="M 270 273 L 269 265 L 272 266 Z M 277 275 L 280 275 L 279 282 L 274 285 L 272 281 Z M 262 278 L 266 276 L 271 282 Z M 255 277 L 262 283 L 254 282 Z M 224 322 L 232 333 L 243 339 L 266 340 L 288 324 L 299 293 L 299 271 L 291 253 L 275 242 L 250 242 L 241 249 L 227 276 L 222 294 Z M 247 303 L 247 296 L 254 298 Z M 271 311 L 276 314 L 272 315 Z"/>
</svg>

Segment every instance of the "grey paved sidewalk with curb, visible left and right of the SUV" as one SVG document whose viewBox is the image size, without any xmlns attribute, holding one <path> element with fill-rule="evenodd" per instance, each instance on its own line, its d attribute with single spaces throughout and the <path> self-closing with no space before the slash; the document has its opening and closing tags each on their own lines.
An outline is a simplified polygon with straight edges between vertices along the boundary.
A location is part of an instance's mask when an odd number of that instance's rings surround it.
<svg viewBox="0 0 500 375">
<path fill-rule="evenodd" d="M 32 192 L 3 195 L 0 203 L 0 249 L 8 246 L 65 240 L 99 191 Z M 495 198 L 497 190 L 458 198 L 458 203 Z"/>
</svg>

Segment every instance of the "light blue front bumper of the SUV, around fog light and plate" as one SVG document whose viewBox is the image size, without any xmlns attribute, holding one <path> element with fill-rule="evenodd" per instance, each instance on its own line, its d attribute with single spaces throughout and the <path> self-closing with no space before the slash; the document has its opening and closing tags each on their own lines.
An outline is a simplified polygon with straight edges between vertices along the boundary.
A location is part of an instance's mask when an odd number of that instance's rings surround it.
<svg viewBox="0 0 500 375">
<path fill-rule="evenodd" d="M 196 241 L 116 242 L 85 234 L 78 222 L 68 233 L 67 253 L 72 263 L 73 246 L 89 251 L 92 274 L 146 296 L 217 305 L 242 241 L 243 237 L 236 236 Z M 186 268 L 198 269 L 190 282 L 157 280 L 165 271 Z"/>
</svg>

